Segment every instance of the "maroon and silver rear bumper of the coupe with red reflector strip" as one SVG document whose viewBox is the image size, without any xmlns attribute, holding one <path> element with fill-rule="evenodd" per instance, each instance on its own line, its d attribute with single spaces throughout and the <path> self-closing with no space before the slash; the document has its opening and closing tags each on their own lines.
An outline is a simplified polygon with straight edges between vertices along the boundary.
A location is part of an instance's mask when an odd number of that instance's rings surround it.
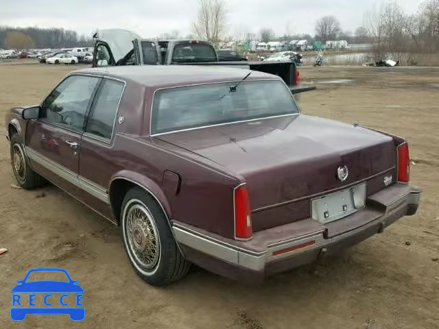
<svg viewBox="0 0 439 329">
<path fill-rule="evenodd" d="M 337 254 L 405 215 L 414 215 L 420 188 L 394 184 L 370 195 L 366 208 L 322 224 L 304 219 L 255 232 L 250 241 L 235 241 L 184 223 L 173 223 L 185 257 L 209 271 L 237 280 L 261 282 L 265 276 Z"/>
</svg>

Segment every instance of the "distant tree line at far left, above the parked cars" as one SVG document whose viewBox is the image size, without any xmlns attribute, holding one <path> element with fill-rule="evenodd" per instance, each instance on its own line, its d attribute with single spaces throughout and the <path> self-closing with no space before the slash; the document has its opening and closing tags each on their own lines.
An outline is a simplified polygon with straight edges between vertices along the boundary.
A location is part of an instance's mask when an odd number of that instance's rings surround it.
<svg viewBox="0 0 439 329">
<path fill-rule="evenodd" d="M 0 49 L 59 49 L 93 46 L 92 35 L 71 29 L 0 26 Z"/>
</svg>

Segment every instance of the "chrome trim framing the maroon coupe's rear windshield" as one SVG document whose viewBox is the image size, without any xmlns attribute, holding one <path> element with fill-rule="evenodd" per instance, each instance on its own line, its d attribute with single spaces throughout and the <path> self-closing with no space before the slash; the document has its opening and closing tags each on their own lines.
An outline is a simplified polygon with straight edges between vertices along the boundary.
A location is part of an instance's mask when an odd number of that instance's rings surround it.
<svg viewBox="0 0 439 329">
<path fill-rule="evenodd" d="M 198 130 L 198 129 L 203 129 L 203 128 L 206 128 L 206 127 L 216 127 L 216 126 L 220 126 L 220 125 L 230 125 L 230 124 L 233 124 L 233 123 L 243 123 L 243 122 L 259 121 L 259 120 L 272 119 L 272 118 L 277 118 L 277 117 L 289 117 L 289 116 L 296 116 L 296 115 L 300 114 L 300 108 L 298 107 L 298 104 L 296 103 L 296 99 L 294 99 L 293 94 L 291 93 L 291 90 L 289 90 L 287 84 L 285 84 L 285 81 L 279 80 L 279 79 L 254 79 L 254 80 L 248 80 L 248 82 L 261 82 L 261 81 L 277 81 L 277 82 L 281 82 L 281 84 L 283 84 L 283 86 L 285 86 L 285 88 L 287 89 L 290 97 L 292 98 L 294 106 L 296 106 L 298 112 L 297 113 L 289 113 L 289 114 L 281 114 L 281 115 L 276 115 L 276 116 L 271 116 L 271 117 L 263 117 L 263 118 L 259 118 L 259 119 L 248 119 L 248 120 L 242 120 L 242 121 L 218 123 L 216 125 L 204 125 L 202 127 L 187 128 L 185 130 L 173 130 L 171 132 L 161 132 L 161 133 L 158 133 L 158 134 L 152 134 L 152 108 L 154 108 L 154 101 L 156 99 L 156 92 L 157 91 L 167 90 L 167 89 L 174 89 L 174 88 L 193 87 L 193 86 L 208 86 L 208 85 L 211 85 L 211 84 L 229 84 L 229 83 L 233 84 L 233 83 L 238 83 L 239 80 L 235 80 L 235 81 L 222 81 L 222 82 L 205 82 L 205 83 L 202 83 L 202 84 L 185 84 L 185 85 L 181 85 L 181 86 L 162 87 L 162 88 L 156 88 L 154 90 L 154 93 L 152 94 L 152 102 L 151 102 L 151 107 L 150 107 L 150 136 L 151 137 L 161 136 L 161 135 L 165 135 L 165 134 L 172 134 L 174 132 Z"/>
</svg>

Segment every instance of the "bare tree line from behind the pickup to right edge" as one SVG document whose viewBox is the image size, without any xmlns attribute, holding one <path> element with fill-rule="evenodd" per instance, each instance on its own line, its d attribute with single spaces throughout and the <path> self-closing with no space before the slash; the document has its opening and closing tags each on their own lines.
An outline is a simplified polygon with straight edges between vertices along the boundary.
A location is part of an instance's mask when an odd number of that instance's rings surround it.
<svg viewBox="0 0 439 329">
<path fill-rule="evenodd" d="M 388 0 L 364 14 L 364 22 L 354 32 L 343 30 L 335 16 L 323 16 L 316 21 L 314 36 L 292 34 L 289 25 L 285 33 L 276 35 L 270 27 L 255 34 L 248 31 L 230 34 L 227 22 L 228 9 L 225 0 L 198 0 L 198 17 L 192 23 L 193 36 L 210 40 L 260 40 L 289 41 L 307 39 L 346 40 L 350 43 L 373 43 L 382 53 L 396 51 L 439 51 L 439 0 L 425 0 L 416 14 L 406 14 L 397 1 Z"/>
</svg>

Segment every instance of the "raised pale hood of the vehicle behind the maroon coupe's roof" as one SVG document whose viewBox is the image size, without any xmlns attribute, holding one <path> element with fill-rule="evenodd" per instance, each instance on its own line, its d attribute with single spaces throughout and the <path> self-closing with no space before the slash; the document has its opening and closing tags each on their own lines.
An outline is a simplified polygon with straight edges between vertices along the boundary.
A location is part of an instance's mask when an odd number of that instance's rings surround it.
<svg viewBox="0 0 439 329">
<path fill-rule="evenodd" d="M 121 60 L 133 48 L 132 40 L 141 36 L 126 29 L 99 29 L 97 39 L 108 43 L 115 61 Z"/>
</svg>

